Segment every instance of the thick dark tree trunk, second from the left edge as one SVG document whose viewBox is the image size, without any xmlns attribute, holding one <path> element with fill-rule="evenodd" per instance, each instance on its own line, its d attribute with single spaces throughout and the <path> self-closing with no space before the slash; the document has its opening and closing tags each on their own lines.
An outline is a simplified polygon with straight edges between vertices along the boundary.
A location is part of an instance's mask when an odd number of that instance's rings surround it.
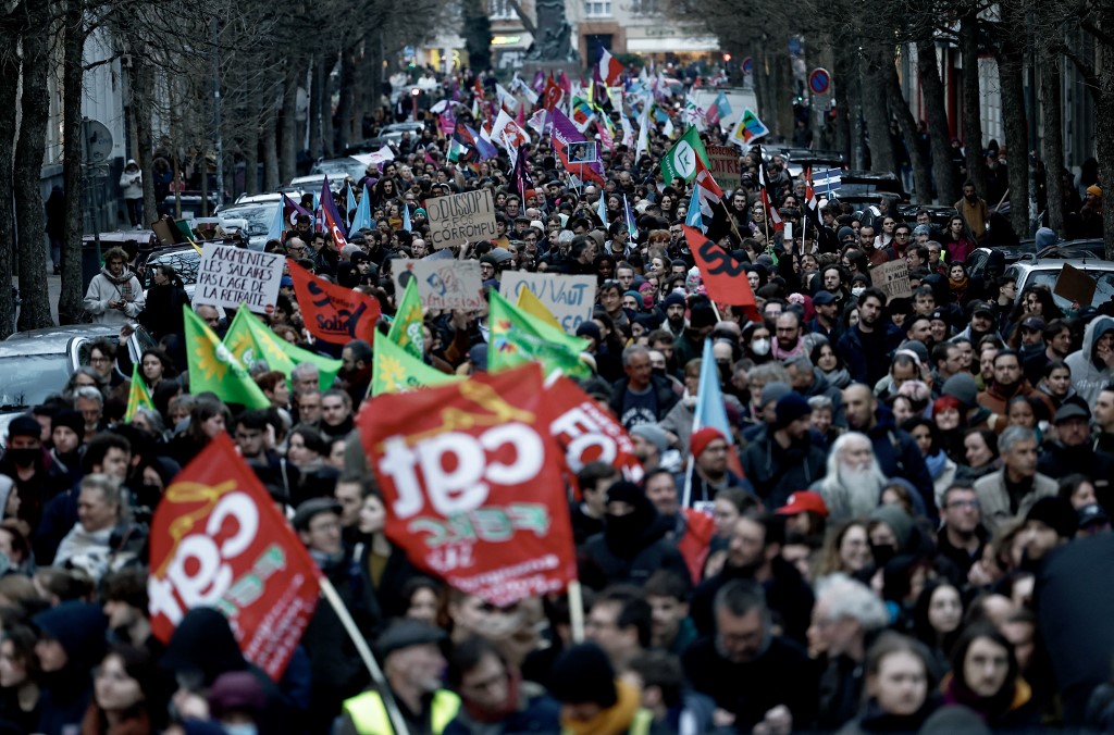
<svg viewBox="0 0 1114 735">
<path fill-rule="evenodd" d="M 19 290 L 23 300 L 19 329 L 37 330 L 52 325 L 50 295 L 47 290 L 46 213 L 42 208 L 42 159 L 46 155 L 50 96 L 47 92 L 49 69 L 49 8 L 47 0 L 29 0 L 28 27 L 22 37 L 23 98 L 19 141 L 16 144 L 16 217 L 19 223 Z M 8 241 L 11 242 L 11 241 Z"/>
</svg>

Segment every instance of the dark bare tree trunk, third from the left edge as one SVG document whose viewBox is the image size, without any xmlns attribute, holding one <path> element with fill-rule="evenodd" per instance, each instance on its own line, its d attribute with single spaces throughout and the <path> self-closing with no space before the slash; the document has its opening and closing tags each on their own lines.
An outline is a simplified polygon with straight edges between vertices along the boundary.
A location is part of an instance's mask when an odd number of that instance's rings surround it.
<svg viewBox="0 0 1114 735">
<path fill-rule="evenodd" d="M 62 186 L 66 192 L 66 233 L 62 236 L 62 285 L 58 297 L 58 322 L 61 324 L 76 323 L 85 311 L 85 293 L 81 290 L 81 236 L 85 234 L 85 178 L 81 175 L 81 56 L 86 39 L 84 10 L 84 0 L 67 0 L 62 40 Z M 4 101 L 0 100 L 0 109 L 7 109 Z M 6 136 L 0 135 L 0 140 L 6 139 Z M 0 170 L 2 169 L 3 165 L 0 163 Z"/>
</svg>

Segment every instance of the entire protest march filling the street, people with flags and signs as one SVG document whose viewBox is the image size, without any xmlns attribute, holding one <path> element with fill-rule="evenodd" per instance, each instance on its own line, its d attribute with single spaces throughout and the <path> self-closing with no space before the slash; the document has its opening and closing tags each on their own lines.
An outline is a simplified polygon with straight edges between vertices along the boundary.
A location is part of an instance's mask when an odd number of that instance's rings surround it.
<svg viewBox="0 0 1114 735">
<path fill-rule="evenodd" d="M 1092 276 L 661 72 L 436 94 L 261 249 L 106 248 L 2 431 L 0 732 L 1114 729 Z"/>
</svg>

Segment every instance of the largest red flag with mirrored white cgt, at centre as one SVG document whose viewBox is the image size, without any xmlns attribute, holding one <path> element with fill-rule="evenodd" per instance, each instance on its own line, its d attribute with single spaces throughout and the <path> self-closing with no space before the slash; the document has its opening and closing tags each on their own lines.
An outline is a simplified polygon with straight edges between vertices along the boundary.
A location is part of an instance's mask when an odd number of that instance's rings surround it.
<svg viewBox="0 0 1114 735">
<path fill-rule="evenodd" d="M 576 579 L 541 369 L 380 395 L 356 423 L 387 536 L 418 567 L 498 606 Z"/>
</svg>

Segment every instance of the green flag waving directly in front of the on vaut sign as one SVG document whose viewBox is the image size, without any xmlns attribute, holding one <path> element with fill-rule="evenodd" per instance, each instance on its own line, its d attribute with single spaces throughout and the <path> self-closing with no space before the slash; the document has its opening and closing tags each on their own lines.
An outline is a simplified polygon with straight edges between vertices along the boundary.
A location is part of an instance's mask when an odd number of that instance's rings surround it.
<svg viewBox="0 0 1114 735">
<path fill-rule="evenodd" d="M 490 291 L 488 324 L 488 370 L 498 372 L 527 362 L 539 362 L 546 373 L 560 370 L 574 378 L 590 378 L 592 371 L 580 360 L 588 343 L 530 316 Z"/>
</svg>

